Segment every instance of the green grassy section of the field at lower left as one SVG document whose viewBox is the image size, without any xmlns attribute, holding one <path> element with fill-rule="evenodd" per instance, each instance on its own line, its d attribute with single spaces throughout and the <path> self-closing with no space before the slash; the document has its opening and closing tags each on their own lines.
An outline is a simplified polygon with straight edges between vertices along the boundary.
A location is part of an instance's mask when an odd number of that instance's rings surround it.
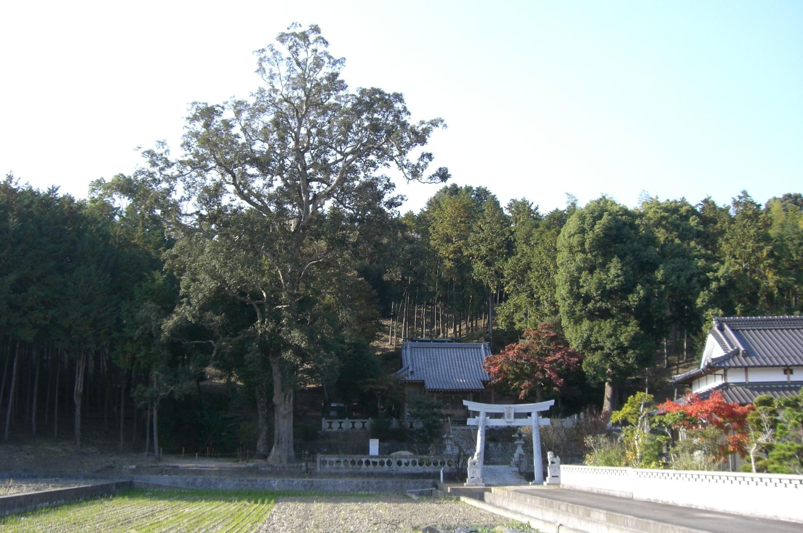
<svg viewBox="0 0 803 533">
<path fill-rule="evenodd" d="M 255 531 L 275 499 L 265 491 L 154 489 L 0 518 L 2 531 Z"/>
</svg>

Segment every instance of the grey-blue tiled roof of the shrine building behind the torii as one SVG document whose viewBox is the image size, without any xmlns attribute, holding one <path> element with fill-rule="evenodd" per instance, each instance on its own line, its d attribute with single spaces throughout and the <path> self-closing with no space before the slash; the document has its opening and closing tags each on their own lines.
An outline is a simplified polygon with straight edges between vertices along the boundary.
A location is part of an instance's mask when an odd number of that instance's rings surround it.
<svg viewBox="0 0 803 533">
<path fill-rule="evenodd" d="M 423 382 L 426 390 L 483 390 L 490 376 L 483 360 L 491 355 L 487 342 L 405 342 L 403 382 Z"/>
</svg>

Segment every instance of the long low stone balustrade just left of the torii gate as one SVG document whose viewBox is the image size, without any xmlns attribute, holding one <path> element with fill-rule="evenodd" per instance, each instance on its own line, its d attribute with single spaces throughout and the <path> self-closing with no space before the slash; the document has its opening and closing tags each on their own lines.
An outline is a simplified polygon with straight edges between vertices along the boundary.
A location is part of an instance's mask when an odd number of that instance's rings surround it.
<svg viewBox="0 0 803 533">
<path fill-rule="evenodd" d="M 345 454 L 318 454 L 318 470 L 366 470 L 375 472 L 440 472 L 442 468 L 451 468 L 455 459 L 449 455 L 401 455 L 371 456 Z"/>
</svg>

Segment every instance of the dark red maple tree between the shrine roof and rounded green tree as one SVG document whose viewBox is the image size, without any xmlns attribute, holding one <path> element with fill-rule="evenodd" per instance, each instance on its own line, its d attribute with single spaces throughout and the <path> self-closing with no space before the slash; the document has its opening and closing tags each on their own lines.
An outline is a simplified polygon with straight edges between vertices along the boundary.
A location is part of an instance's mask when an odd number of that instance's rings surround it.
<svg viewBox="0 0 803 533">
<path fill-rule="evenodd" d="M 580 369 L 582 357 L 555 326 L 539 324 L 528 329 L 522 340 L 505 346 L 501 353 L 486 357 L 485 371 L 491 385 L 510 391 L 520 400 L 557 394 L 565 386 L 565 376 Z"/>
</svg>

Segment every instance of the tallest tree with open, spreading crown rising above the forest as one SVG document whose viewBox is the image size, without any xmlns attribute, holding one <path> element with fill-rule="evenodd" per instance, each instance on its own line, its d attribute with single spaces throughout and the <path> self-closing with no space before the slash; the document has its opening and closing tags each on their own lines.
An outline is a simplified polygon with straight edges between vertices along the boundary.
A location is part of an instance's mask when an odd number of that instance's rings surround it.
<svg viewBox="0 0 803 533">
<path fill-rule="evenodd" d="M 251 352 L 239 375 L 254 371 L 272 379 L 273 463 L 293 453 L 298 373 L 331 363 L 316 333 L 316 313 L 337 307 L 325 300 L 348 292 L 341 286 L 327 296 L 333 286 L 348 285 L 340 282 L 353 260 L 350 246 L 397 205 L 386 197 L 393 186 L 382 172 L 393 168 L 422 182 L 449 177 L 446 168 L 428 175 L 432 154 L 419 150 L 443 126 L 441 119 L 411 123 L 399 93 L 349 91 L 340 79 L 344 59 L 328 53 L 318 26 L 293 25 L 277 41 L 283 52 L 274 46 L 258 51 L 265 85 L 251 99 L 195 103 L 184 155 L 149 152 L 153 168 L 180 180 L 194 206 L 177 243 L 197 261 L 183 269 L 189 273 L 181 281 L 187 317 L 210 322 L 209 310 L 187 310 L 210 301 L 192 291 L 217 292 L 250 310 Z M 198 273 L 203 264 L 209 269 Z M 271 387 L 256 389 L 264 434 L 263 396 Z M 259 452 L 267 451 L 264 445 Z"/>
</svg>

